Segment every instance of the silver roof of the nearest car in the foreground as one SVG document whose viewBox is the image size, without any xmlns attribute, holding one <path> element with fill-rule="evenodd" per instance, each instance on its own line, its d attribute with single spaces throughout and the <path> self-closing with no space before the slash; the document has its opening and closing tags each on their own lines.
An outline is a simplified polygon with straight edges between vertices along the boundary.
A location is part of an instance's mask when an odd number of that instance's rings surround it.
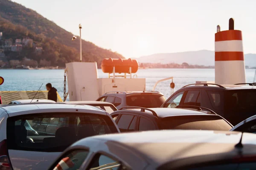
<svg viewBox="0 0 256 170">
<path fill-rule="evenodd" d="M 212 154 L 224 154 L 236 152 L 239 154 L 235 145 L 241 138 L 240 132 L 230 131 L 210 131 L 210 130 L 157 130 L 140 131 L 134 133 L 120 133 L 93 136 L 81 139 L 72 145 L 93 147 L 95 143 L 92 140 L 101 141 L 101 144 L 110 148 L 110 143 L 115 146 L 121 146 L 122 150 L 115 152 L 125 154 L 126 150 L 132 150 L 139 156 L 143 156 L 150 164 L 165 164 L 178 159 L 186 159 L 194 156 L 205 156 Z M 256 146 L 256 135 L 244 133 L 242 144 Z M 95 147 L 95 146 L 94 146 Z M 104 147 L 104 146 L 102 146 Z M 247 152 L 256 153 L 256 150 L 247 150 Z M 249 154 L 249 153 L 248 153 Z M 202 160 L 201 160 L 202 161 Z"/>
</svg>

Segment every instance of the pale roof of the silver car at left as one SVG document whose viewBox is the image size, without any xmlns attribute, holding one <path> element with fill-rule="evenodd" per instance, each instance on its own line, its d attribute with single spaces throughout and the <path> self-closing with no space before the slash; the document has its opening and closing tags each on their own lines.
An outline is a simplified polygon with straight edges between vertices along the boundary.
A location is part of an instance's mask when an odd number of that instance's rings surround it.
<svg viewBox="0 0 256 170">
<path fill-rule="evenodd" d="M 20 104 L 20 105 L 3 105 L 0 109 L 6 111 L 9 116 L 17 116 L 30 113 L 98 113 L 106 115 L 106 112 L 102 109 L 90 106 L 90 105 L 63 105 L 58 103 L 37 103 L 37 104 Z"/>
</svg>

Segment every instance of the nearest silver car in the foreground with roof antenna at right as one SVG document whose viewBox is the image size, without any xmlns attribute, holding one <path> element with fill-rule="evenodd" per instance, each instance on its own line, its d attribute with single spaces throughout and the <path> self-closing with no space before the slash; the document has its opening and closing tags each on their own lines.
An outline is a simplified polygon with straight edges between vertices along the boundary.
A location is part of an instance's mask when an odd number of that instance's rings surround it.
<svg viewBox="0 0 256 170">
<path fill-rule="evenodd" d="M 255 155 L 252 133 L 144 131 L 81 139 L 49 170 L 255 170 Z"/>
</svg>

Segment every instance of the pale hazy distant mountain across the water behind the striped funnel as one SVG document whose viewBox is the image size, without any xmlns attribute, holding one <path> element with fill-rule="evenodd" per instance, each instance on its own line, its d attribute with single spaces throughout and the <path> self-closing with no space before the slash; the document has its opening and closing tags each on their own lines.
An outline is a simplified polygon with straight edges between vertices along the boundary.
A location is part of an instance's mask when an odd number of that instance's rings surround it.
<svg viewBox="0 0 256 170">
<path fill-rule="evenodd" d="M 143 56 L 136 59 L 140 63 L 182 64 L 183 62 L 186 62 L 189 65 L 205 65 L 205 66 L 215 65 L 214 51 L 208 51 L 208 50 L 152 54 L 149 56 Z M 245 54 L 244 60 L 245 60 L 245 65 L 249 67 L 256 67 L 256 54 Z"/>
</svg>

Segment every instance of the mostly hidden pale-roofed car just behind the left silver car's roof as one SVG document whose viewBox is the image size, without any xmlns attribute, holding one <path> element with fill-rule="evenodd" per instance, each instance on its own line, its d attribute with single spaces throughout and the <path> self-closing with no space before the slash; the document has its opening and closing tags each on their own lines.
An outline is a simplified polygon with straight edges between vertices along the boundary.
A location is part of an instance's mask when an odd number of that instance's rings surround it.
<svg viewBox="0 0 256 170">
<path fill-rule="evenodd" d="M 90 105 L 95 106 L 97 108 L 101 108 L 108 113 L 112 113 L 117 111 L 117 108 L 109 102 L 99 102 L 99 101 L 68 101 L 68 102 L 58 102 L 58 103 L 65 103 L 65 104 L 72 104 L 72 105 Z"/>
</svg>

